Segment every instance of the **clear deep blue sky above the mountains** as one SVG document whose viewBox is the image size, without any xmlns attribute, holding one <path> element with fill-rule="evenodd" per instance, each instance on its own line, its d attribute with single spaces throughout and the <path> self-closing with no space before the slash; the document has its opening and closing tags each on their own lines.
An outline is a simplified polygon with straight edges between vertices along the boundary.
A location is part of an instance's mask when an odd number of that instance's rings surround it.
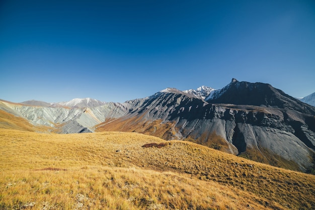
<svg viewBox="0 0 315 210">
<path fill-rule="evenodd" d="M 315 1 L 0 1 L 0 98 L 123 102 L 231 78 L 315 92 Z"/>
</svg>

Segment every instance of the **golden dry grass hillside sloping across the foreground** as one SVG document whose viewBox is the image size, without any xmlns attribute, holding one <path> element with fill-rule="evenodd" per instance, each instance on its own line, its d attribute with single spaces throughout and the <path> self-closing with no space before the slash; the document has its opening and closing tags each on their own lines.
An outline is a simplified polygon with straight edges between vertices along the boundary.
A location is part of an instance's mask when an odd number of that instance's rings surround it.
<svg viewBox="0 0 315 210">
<path fill-rule="evenodd" d="M 315 206 L 314 175 L 137 133 L 0 129 L 0 154 L 0 209 Z"/>
</svg>

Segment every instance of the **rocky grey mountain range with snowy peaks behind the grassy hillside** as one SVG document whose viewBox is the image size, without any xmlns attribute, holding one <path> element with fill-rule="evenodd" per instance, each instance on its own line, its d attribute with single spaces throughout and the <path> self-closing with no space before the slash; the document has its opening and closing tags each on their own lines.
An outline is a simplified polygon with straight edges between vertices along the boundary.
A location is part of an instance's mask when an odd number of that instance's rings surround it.
<svg viewBox="0 0 315 210">
<path fill-rule="evenodd" d="M 0 101 L 0 127 L 55 133 L 137 132 L 187 140 L 287 169 L 314 167 L 315 108 L 266 83 L 166 88 L 124 103 Z"/>
</svg>

